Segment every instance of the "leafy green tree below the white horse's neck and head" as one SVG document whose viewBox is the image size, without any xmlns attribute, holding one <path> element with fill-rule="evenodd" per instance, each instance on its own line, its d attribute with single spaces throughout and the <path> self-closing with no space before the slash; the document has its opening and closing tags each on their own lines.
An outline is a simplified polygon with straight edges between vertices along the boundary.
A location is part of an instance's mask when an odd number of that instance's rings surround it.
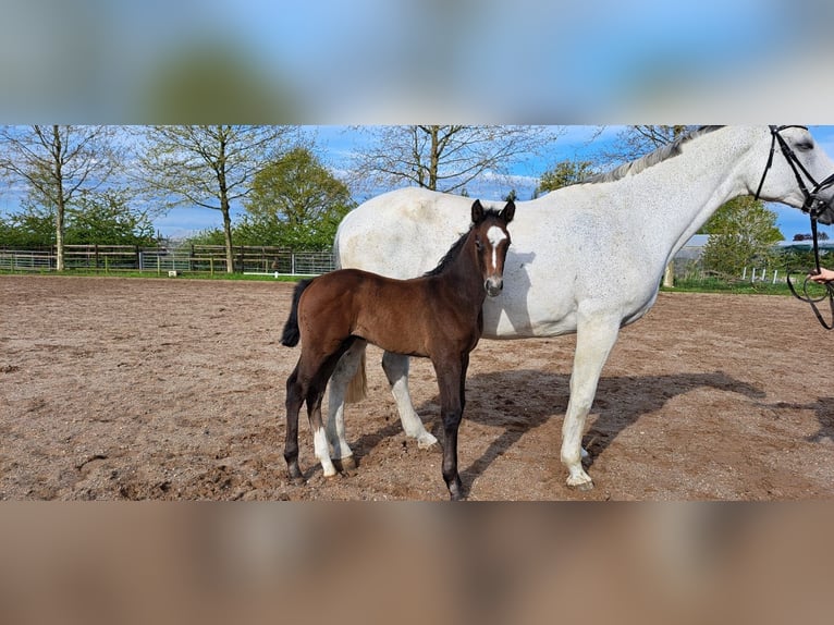
<svg viewBox="0 0 834 625">
<path fill-rule="evenodd" d="M 703 248 L 703 267 L 738 275 L 753 264 L 774 259 L 773 246 L 784 237 L 776 228 L 776 213 L 751 196 L 721 206 L 704 226 L 710 240 Z"/>
</svg>

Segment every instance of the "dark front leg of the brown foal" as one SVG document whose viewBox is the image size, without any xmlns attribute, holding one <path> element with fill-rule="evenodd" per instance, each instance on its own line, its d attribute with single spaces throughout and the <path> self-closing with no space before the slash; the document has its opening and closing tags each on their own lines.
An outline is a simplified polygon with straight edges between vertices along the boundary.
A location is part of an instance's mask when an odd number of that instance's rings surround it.
<svg viewBox="0 0 834 625">
<path fill-rule="evenodd" d="M 440 414 L 443 419 L 443 479 L 452 501 L 464 499 L 463 483 L 457 473 L 457 430 L 461 427 L 464 405 L 464 385 L 469 354 L 463 357 L 432 359 L 440 388 Z"/>
</svg>

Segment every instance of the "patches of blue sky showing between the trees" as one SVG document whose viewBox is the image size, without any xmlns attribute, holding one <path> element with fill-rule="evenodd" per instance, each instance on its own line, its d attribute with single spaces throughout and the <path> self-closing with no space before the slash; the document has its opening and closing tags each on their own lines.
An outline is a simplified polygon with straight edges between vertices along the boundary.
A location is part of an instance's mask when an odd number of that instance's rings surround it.
<svg viewBox="0 0 834 625">
<path fill-rule="evenodd" d="M 512 173 L 513 186 L 519 199 L 531 197 L 539 176 L 553 164 L 562 160 L 591 157 L 605 144 L 611 143 L 622 126 L 606 126 L 602 134 L 591 142 L 599 130 L 599 126 L 565 126 L 565 133 L 541 158 L 518 163 Z M 307 131 L 315 135 L 319 156 L 335 172 L 347 167 L 351 152 L 357 148 L 358 142 L 363 140 L 360 134 L 348 126 L 308 126 Z M 811 132 L 821 147 L 834 158 L 834 126 L 811 126 Z M 379 191 L 381 193 L 385 189 Z M 510 188 L 505 184 L 499 185 L 491 181 L 483 181 L 480 184 L 470 185 L 468 191 L 474 197 L 501 199 Z M 361 200 L 364 197 L 357 195 L 356 199 Z M 776 225 L 786 240 L 792 240 L 794 234 L 810 231 L 807 216 L 798 210 L 778 204 L 769 205 L 769 208 L 776 213 Z M 241 212 L 242 209 L 236 207 L 234 213 Z M 173 237 L 209 228 L 220 228 L 221 223 L 218 211 L 203 208 L 177 208 L 155 221 L 156 228 L 164 236 Z M 834 230 L 831 226 L 821 226 L 821 231 L 829 232 L 829 236 L 834 238 Z"/>
</svg>

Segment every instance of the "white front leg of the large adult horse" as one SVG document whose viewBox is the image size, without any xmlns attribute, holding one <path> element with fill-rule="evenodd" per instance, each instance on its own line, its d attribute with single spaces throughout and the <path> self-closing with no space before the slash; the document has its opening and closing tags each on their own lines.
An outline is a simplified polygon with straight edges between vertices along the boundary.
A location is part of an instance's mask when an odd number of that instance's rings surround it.
<svg viewBox="0 0 834 625">
<path fill-rule="evenodd" d="M 585 421 L 593 404 L 602 367 L 620 333 L 620 317 L 580 318 L 576 329 L 576 353 L 571 373 L 571 400 L 562 425 L 562 463 L 567 486 L 591 490 L 593 481 L 582 468 Z"/>
</svg>

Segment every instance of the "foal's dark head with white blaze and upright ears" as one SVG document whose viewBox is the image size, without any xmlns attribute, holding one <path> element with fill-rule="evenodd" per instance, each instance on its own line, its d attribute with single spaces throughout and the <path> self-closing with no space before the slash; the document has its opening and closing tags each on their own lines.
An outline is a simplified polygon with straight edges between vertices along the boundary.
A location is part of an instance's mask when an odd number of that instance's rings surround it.
<svg viewBox="0 0 834 625">
<path fill-rule="evenodd" d="M 483 289 L 487 295 L 495 297 L 504 287 L 504 259 L 510 248 L 507 224 L 513 221 L 515 204 L 512 200 L 501 209 L 485 210 L 480 200 L 473 203 L 473 228 L 470 236 L 475 238 L 478 265 L 483 275 Z"/>
</svg>

